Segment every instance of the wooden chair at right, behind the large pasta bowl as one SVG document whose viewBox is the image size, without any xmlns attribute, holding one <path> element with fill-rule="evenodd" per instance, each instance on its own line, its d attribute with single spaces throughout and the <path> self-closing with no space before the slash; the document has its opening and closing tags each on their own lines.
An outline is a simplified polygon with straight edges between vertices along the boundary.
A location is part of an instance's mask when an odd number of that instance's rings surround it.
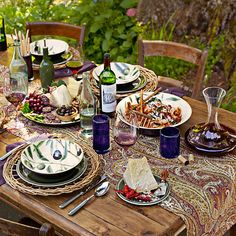
<svg viewBox="0 0 236 236">
<path fill-rule="evenodd" d="M 201 95 L 207 55 L 207 51 L 201 51 L 181 43 L 142 39 L 138 42 L 138 64 L 141 66 L 144 66 L 144 56 L 166 56 L 195 64 L 197 72 L 192 88 L 192 98 L 195 99 L 200 98 Z M 183 88 L 181 81 L 163 76 L 159 76 L 159 84 L 164 87 Z"/>
</svg>

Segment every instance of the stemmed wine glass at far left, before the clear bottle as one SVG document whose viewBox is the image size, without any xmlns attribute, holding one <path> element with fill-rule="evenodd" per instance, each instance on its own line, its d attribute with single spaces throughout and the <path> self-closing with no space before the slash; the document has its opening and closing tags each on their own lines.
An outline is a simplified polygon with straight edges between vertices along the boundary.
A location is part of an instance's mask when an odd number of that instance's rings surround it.
<svg viewBox="0 0 236 236">
<path fill-rule="evenodd" d="M 9 78 L 5 77 L 3 85 L 3 94 L 5 98 L 15 106 L 16 116 L 15 116 L 15 128 L 22 128 L 22 123 L 18 119 L 18 110 L 23 100 L 25 99 L 28 86 L 24 76 L 19 78 Z"/>
</svg>

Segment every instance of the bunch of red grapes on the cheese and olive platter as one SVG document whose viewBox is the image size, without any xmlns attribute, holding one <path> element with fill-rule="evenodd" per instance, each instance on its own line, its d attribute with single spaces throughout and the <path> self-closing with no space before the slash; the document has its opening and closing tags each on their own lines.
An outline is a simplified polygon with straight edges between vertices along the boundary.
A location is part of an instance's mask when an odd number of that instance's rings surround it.
<svg viewBox="0 0 236 236">
<path fill-rule="evenodd" d="M 30 93 L 27 100 L 30 109 L 37 114 L 42 113 L 43 107 L 49 106 L 49 98 L 43 94 Z"/>
</svg>

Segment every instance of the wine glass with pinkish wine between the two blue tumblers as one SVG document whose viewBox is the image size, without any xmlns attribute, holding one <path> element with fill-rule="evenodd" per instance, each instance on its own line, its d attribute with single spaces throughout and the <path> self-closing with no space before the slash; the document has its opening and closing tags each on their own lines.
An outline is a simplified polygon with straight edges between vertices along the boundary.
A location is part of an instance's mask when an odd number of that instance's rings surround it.
<svg viewBox="0 0 236 236">
<path fill-rule="evenodd" d="M 125 120 L 122 114 L 117 113 L 113 127 L 115 142 L 122 147 L 122 157 L 127 160 L 130 153 L 128 149 L 134 145 L 138 139 L 137 117 L 130 113 L 129 122 Z"/>
</svg>

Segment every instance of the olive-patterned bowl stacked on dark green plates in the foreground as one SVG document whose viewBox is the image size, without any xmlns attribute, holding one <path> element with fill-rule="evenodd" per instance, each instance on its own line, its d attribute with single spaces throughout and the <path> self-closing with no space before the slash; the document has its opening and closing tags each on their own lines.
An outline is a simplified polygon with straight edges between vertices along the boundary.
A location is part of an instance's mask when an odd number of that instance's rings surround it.
<svg viewBox="0 0 236 236">
<path fill-rule="evenodd" d="M 16 172 L 34 186 L 58 187 L 79 179 L 87 169 L 83 149 L 70 140 L 46 139 L 21 153 Z"/>
</svg>

